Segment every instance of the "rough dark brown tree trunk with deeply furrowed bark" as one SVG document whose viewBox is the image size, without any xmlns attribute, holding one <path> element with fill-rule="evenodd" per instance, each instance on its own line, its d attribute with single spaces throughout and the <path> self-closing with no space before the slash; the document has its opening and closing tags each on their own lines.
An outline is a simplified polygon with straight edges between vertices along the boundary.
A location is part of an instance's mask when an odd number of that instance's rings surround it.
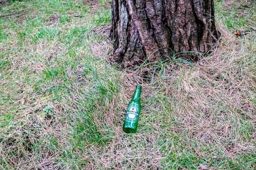
<svg viewBox="0 0 256 170">
<path fill-rule="evenodd" d="M 217 41 L 213 0 L 112 0 L 114 59 L 124 66 L 180 51 L 208 51 Z M 191 52 L 188 52 L 191 54 Z M 182 55 L 196 60 L 197 55 Z"/>
</svg>

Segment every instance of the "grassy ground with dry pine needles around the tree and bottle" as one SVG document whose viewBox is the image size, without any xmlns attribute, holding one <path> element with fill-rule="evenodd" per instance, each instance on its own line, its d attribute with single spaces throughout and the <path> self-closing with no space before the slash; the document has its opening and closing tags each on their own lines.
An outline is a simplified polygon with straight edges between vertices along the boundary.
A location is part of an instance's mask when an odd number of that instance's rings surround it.
<svg viewBox="0 0 256 170">
<path fill-rule="evenodd" d="M 110 65 L 110 19 L 106 0 L 0 1 L 0 169 L 253 170 L 256 2 L 216 1 L 220 42 L 194 66 Z"/>
</svg>

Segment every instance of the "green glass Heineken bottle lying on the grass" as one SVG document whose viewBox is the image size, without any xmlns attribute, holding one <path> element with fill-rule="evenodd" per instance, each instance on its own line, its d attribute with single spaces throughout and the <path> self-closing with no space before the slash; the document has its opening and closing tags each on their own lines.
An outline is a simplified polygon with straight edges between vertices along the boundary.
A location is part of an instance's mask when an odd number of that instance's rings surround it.
<svg viewBox="0 0 256 170">
<path fill-rule="evenodd" d="M 133 99 L 128 104 L 125 120 L 123 123 L 123 131 L 126 133 L 136 133 L 138 126 L 138 116 L 140 113 L 140 92 L 141 85 L 137 85 L 133 94 Z"/>
</svg>

